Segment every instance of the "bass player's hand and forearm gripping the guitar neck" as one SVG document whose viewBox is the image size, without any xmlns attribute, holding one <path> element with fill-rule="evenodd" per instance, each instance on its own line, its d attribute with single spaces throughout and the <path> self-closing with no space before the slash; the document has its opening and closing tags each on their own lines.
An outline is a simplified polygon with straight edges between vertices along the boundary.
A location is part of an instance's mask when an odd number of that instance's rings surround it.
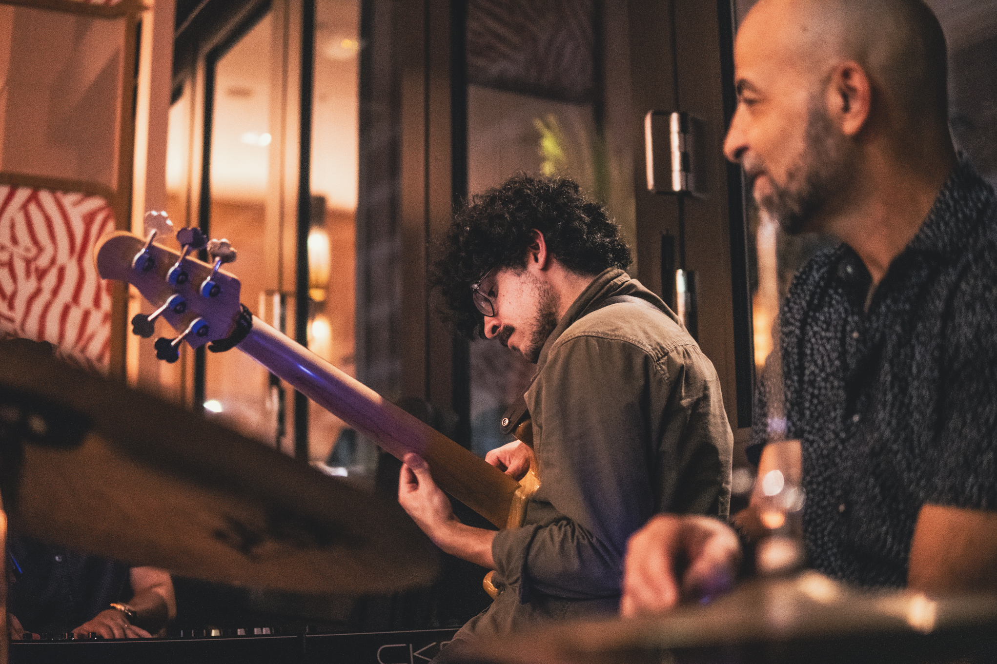
<svg viewBox="0 0 997 664">
<path fill-rule="evenodd" d="M 461 523 L 450 499 L 433 481 L 425 459 L 410 452 L 402 461 L 398 502 L 416 525 L 443 551 L 495 569 L 492 541 L 496 532 Z"/>
</svg>

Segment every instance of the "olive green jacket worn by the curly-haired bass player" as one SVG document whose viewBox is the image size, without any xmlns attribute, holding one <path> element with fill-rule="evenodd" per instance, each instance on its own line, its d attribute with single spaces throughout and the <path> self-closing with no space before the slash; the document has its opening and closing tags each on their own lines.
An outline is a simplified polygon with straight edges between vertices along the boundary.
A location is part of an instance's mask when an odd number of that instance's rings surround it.
<svg viewBox="0 0 997 664">
<path fill-rule="evenodd" d="M 653 307 L 605 305 L 615 296 Z M 540 488 L 524 526 L 496 536 L 501 593 L 459 642 L 614 612 L 627 539 L 651 516 L 727 517 L 733 436 L 716 370 L 622 270 L 600 274 L 568 309 L 525 400 Z"/>
</svg>

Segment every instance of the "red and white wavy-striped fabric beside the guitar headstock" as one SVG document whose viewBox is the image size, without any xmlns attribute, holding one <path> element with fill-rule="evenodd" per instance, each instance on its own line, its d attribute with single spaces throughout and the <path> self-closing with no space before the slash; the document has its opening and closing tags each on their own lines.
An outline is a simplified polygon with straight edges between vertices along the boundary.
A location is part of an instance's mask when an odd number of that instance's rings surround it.
<svg viewBox="0 0 997 664">
<path fill-rule="evenodd" d="M 99 196 L 0 185 L 0 331 L 107 370 L 111 284 L 93 255 L 114 227 Z"/>
</svg>

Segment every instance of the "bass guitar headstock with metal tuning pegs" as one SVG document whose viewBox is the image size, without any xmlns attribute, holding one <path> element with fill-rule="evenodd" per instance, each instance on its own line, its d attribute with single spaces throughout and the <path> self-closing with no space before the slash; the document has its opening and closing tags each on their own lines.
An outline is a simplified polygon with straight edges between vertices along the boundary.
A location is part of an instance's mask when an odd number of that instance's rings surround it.
<svg viewBox="0 0 997 664">
<path fill-rule="evenodd" d="M 190 246 L 200 248 L 197 245 L 195 239 Z M 190 347 L 197 348 L 233 332 L 241 312 L 240 284 L 234 275 L 185 254 L 181 257 L 155 241 L 114 231 L 98 241 L 94 260 L 101 277 L 135 286 L 159 312 L 156 318 L 165 319 Z M 153 317 L 140 315 L 133 319 L 133 332 L 151 336 L 156 322 L 148 318 Z M 159 339 L 157 350 L 161 351 L 162 346 L 162 352 L 158 355 L 173 361 L 175 357 L 170 359 L 172 351 L 166 350 L 167 344 L 175 350 L 179 342 L 175 338 Z"/>
</svg>

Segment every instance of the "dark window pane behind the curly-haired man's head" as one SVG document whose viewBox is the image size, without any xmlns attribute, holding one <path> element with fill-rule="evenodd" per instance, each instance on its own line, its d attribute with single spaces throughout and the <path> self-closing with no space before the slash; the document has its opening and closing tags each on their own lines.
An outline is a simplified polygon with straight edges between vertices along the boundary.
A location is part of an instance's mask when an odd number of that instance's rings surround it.
<svg viewBox="0 0 997 664">
<path fill-rule="evenodd" d="M 482 192 L 520 171 L 570 177 L 606 204 L 636 255 L 626 109 L 614 92 L 620 82 L 599 70 L 623 46 L 597 42 L 606 29 L 599 8 L 591 0 L 468 3 L 468 189 Z M 476 454 L 510 439 L 501 414 L 535 369 L 496 341 L 471 343 Z"/>
</svg>

